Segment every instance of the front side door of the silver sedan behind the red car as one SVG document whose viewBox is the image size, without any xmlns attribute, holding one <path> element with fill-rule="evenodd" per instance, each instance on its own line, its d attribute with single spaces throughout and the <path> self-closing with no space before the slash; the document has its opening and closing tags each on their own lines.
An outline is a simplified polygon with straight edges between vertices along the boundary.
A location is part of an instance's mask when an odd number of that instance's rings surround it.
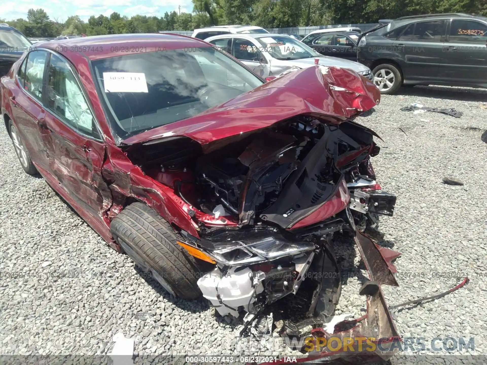
<svg viewBox="0 0 487 365">
<path fill-rule="evenodd" d="M 260 51 L 261 46 L 248 39 L 233 38 L 232 55 L 261 77 L 269 76 L 269 63 Z"/>
</svg>

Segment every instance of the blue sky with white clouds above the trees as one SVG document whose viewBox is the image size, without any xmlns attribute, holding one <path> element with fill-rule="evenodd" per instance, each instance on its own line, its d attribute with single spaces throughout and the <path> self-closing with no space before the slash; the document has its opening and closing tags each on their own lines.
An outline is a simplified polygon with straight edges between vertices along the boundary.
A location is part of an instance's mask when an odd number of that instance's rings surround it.
<svg viewBox="0 0 487 365">
<path fill-rule="evenodd" d="M 190 13 L 193 10 L 191 0 L 0 0 L 0 18 L 14 20 L 27 18 L 27 10 L 30 8 L 42 8 L 52 20 L 63 22 L 72 15 L 78 15 L 83 20 L 90 16 L 103 14 L 110 16 L 114 11 L 120 15 L 147 15 L 164 16 L 165 12 L 178 11 L 181 5 L 181 13 Z"/>
</svg>

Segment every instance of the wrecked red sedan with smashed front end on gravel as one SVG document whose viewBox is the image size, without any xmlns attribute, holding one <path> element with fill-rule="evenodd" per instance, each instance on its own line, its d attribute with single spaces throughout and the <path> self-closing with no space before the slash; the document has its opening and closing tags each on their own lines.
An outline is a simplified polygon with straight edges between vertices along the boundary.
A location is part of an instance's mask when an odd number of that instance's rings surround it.
<svg viewBox="0 0 487 365">
<path fill-rule="evenodd" d="M 380 99 L 364 77 L 314 66 L 265 82 L 198 39 L 117 35 L 39 43 L 1 91 L 25 172 L 169 293 L 247 312 L 253 333 L 282 298 L 307 318 L 289 332 L 319 325 L 340 296 L 331 242 L 348 235 L 373 310 L 354 328 L 397 335 L 380 290 L 397 285 L 395 255 L 370 237 L 395 196 L 375 181 L 378 136 L 354 122 Z"/>
</svg>

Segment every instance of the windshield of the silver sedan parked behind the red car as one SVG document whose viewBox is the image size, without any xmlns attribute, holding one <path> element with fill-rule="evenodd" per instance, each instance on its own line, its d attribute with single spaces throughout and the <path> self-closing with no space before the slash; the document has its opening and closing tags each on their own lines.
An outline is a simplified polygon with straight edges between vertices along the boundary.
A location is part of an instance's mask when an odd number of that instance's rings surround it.
<svg viewBox="0 0 487 365">
<path fill-rule="evenodd" d="M 288 36 L 272 35 L 256 38 L 273 58 L 281 60 L 301 59 L 321 56 L 303 42 Z"/>
</svg>

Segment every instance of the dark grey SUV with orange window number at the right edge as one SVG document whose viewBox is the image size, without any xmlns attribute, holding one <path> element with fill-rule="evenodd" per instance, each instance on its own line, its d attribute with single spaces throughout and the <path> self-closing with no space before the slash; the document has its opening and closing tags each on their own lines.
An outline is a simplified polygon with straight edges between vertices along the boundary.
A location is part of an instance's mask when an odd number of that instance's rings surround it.
<svg viewBox="0 0 487 365">
<path fill-rule="evenodd" d="M 487 88 L 487 18 L 462 13 L 394 19 L 364 32 L 358 61 L 383 94 L 401 85 Z"/>
</svg>

